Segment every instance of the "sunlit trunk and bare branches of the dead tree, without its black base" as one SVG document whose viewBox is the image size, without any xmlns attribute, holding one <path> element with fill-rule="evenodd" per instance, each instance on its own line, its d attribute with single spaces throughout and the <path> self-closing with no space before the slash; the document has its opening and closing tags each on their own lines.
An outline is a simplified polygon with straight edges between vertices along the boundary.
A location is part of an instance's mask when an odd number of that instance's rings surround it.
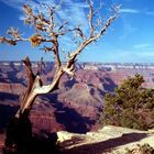
<svg viewBox="0 0 154 154">
<path fill-rule="evenodd" d="M 41 78 L 41 74 L 34 74 L 32 69 L 31 62 L 29 57 L 25 57 L 23 63 L 26 70 L 28 76 L 28 88 L 21 101 L 20 109 L 18 110 L 15 118 L 20 118 L 25 110 L 31 111 L 31 108 L 34 103 L 36 96 L 43 94 L 50 94 L 56 89 L 58 89 L 58 84 L 61 77 L 64 74 L 68 74 L 70 77 L 75 75 L 75 64 L 77 61 L 77 56 L 92 42 L 96 42 L 100 38 L 110 24 L 117 19 L 119 8 L 112 7 L 112 13 L 107 19 L 106 22 L 102 22 L 100 19 L 96 19 L 97 13 L 100 11 L 100 8 L 95 9 L 92 0 L 87 1 L 87 6 L 89 9 L 89 13 L 87 15 L 87 20 L 89 25 L 87 25 L 88 33 L 84 33 L 81 26 L 78 24 L 76 28 L 67 29 L 68 21 L 64 21 L 61 24 L 56 24 L 55 22 L 55 12 L 57 11 L 56 7 L 46 7 L 50 13 L 50 18 L 47 19 L 45 14 L 42 12 L 35 13 L 29 4 L 23 6 L 23 10 L 25 12 L 25 24 L 30 24 L 34 28 L 35 33 L 30 37 L 22 37 L 18 29 L 11 28 L 8 30 L 8 34 L 12 37 L 0 37 L 1 43 L 7 43 L 10 45 L 16 45 L 19 42 L 28 41 L 32 44 L 32 46 L 41 46 L 44 43 L 50 44 L 50 46 L 43 46 L 43 51 L 52 52 L 55 57 L 55 66 L 56 72 L 53 78 L 53 81 L 50 85 L 45 85 Z M 96 15 L 96 16 L 95 16 Z M 67 33 L 76 33 L 79 43 L 77 48 L 73 52 L 69 52 L 67 55 L 67 62 L 65 64 L 62 63 L 59 56 L 59 36 L 63 37 Z"/>
</svg>

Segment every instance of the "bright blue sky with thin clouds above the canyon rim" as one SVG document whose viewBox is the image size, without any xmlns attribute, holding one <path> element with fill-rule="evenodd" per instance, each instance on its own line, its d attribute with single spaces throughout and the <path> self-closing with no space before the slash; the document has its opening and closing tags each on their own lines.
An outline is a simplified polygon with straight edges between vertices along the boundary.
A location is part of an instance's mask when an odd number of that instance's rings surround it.
<svg viewBox="0 0 154 154">
<path fill-rule="evenodd" d="M 54 0 L 37 0 L 52 4 Z M 100 0 L 94 0 L 97 7 Z M 33 29 L 23 24 L 23 3 L 38 8 L 38 3 L 28 0 L 0 0 L 0 36 L 6 34 L 9 26 L 19 28 L 23 36 L 31 36 Z M 154 63 L 154 0 L 102 0 L 100 12 L 105 19 L 110 13 L 112 3 L 122 4 L 119 18 L 110 26 L 106 35 L 98 42 L 88 46 L 78 57 L 79 62 L 102 63 Z M 43 10 L 44 11 L 44 10 Z M 70 20 L 74 26 L 80 23 L 87 33 L 87 6 L 85 0 L 64 0 L 59 9 L 62 19 Z M 61 47 L 69 52 L 73 46 L 72 38 L 66 36 L 61 41 Z M 42 56 L 52 59 L 51 53 L 46 54 L 31 47 L 30 43 L 19 43 L 16 46 L 0 44 L 0 61 L 21 61 L 30 56 L 38 61 Z"/>
</svg>

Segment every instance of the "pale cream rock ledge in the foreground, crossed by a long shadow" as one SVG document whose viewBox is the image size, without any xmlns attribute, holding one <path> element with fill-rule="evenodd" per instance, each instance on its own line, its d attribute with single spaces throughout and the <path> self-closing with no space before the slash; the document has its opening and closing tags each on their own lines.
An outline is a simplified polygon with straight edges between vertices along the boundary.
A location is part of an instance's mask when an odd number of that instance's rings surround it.
<svg viewBox="0 0 154 154">
<path fill-rule="evenodd" d="M 64 154 L 124 154 L 138 144 L 154 147 L 154 131 L 139 131 L 108 125 L 97 132 L 75 134 L 58 132 Z M 135 153 L 140 154 L 140 153 Z"/>
</svg>

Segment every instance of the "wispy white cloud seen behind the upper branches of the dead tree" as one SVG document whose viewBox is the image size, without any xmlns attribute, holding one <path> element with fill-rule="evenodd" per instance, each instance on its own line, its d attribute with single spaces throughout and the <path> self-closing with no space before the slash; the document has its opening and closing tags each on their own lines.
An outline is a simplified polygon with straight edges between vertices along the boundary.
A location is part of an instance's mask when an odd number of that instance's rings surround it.
<svg viewBox="0 0 154 154">
<path fill-rule="evenodd" d="M 4 0 L 0 0 L 0 1 L 4 1 Z M 37 0 L 37 2 L 32 1 L 32 0 L 29 0 L 29 1 L 28 0 L 8 0 L 8 1 L 6 0 L 4 3 L 19 10 L 21 10 L 21 7 L 24 3 L 29 3 L 33 8 L 34 11 L 40 10 L 40 11 L 43 11 L 44 14 L 48 15 L 48 12 L 46 11 L 46 9 L 44 7 L 41 7 L 40 3 L 46 4 L 46 6 L 53 6 L 55 4 L 55 0 Z M 63 20 L 68 20 L 68 23 L 72 26 L 76 26 L 80 24 L 84 32 L 87 34 L 88 29 L 89 29 L 87 8 L 88 8 L 88 4 L 85 3 L 85 0 L 82 0 L 82 2 L 77 2 L 74 0 L 63 0 L 58 11 L 56 12 L 56 23 Z M 20 16 L 20 19 L 23 20 L 23 16 Z M 73 46 L 74 41 L 73 41 L 73 37 L 70 37 L 70 35 L 63 36 L 63 41 L 59 44 L 61 44 L 59 46 L 61 48 L 62 46 L 65 46 L 65 48 L 67 48 L 68 51 L 70 50 L 70 47 L 74 50 L 74 46 Z"/>
</svg>

